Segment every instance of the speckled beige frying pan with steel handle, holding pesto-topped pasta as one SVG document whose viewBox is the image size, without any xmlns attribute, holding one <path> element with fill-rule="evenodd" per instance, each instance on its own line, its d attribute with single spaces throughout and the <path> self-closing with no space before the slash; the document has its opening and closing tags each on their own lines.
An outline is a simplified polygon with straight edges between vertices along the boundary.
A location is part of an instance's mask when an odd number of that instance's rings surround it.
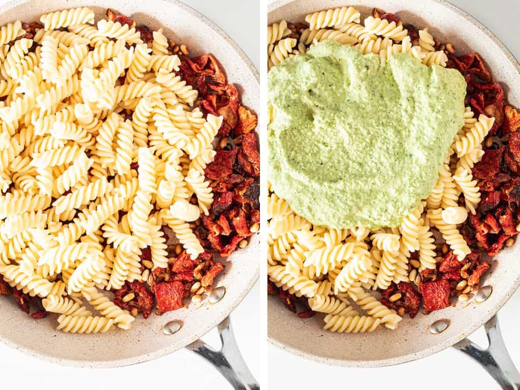
<svg viewBox="0 0 520 390">
<path fill-rule="evenodd" d="M 478 51 L 496 81 L 504 86 L 506 97 L 520 105 L 520 66 L 508 49 L 482 24 L 443 0 L 279 0 L 268 7 L 268 23 L 303 21 L 309 12 L 352 5 L 367 17 L 373 7 L 397 12 L 405 23 L 428 27 L 442 42 L 451 42 L 459 53 Z M 472 301 L 434 311 L 414 319 L 404 318 L 395 331 L 378 330 L 368 334 L 338 334 L 322 330 L 321 316 L 300 319 L 283 303 L 268 300 L 269 341 L 295 355 L 346 367 L 381 367 L 420 359 L 454 346 L 483 365 L 502 388 L 518 389 L 520 374 L 509 357 L 495 317 L 520 284 L 520 243 L 502 251 L 492 261 L 483 280 L 491 294 L 482 303 Z M 436 322 L 444 320 L 443 322 Z M 448 324 L 442 328 L 439 324 Z M 482 349 L 465 337 L 485 324 L 489 348 Z M 431 331 L 437 331 L 432 333 Z"/>
</svg>

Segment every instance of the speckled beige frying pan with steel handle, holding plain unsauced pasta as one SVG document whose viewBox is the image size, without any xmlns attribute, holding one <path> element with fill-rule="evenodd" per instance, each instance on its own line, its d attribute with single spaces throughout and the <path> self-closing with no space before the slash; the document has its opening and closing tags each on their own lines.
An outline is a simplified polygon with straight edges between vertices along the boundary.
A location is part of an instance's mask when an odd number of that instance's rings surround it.
<svg viewBox="0 0 520 390">
<path fill-rule="evenodd" d="M 260 107 L 258 72 L 243 51 L 209 19 L 180 2 L 16 0 L 0 7 L 0 23 L 38 20 L 45 12 L 78 6 L 92 7 L 96 19 L 105 16 L 107 7 L 113 8 L 131 16 L 137 24 L 147 24 L 152 29 L 163 27 L 165 35 L 187 44 L 194 55 L 213 53 L 222 62 L 229 81 L 238 85 L 244 105 L 253 109 Z M 216 282 L 216 286 L 226 290 L 217 303 L 198 309 L 183 308 L 162 316 L 152 314 L 147 320 L 139 316 L 129 331 L 74 335 L 56 331 L 55 318 L 32 320 L 16 307 L 14 300 L 2 298 L 0 341 L 38 358 L 89 368 L 131 365 L 188 347 L 217 366 L 233 387 L 257 388 L 256 381 L 241 361 L 228 316 L 259 276 L 259 241 L 259 235 L 253 236 L 245 249 L 230 256 L 223 275 Z M 178 321 L 174 324 L 182 326 L 175 333 L 165 335 L 163 326 L 170 321 Z M 220 351 L 199 341 L 215 327 L 223 341 Z M 175 330 L 173 327 L 168 329 Z"/>
</svg>

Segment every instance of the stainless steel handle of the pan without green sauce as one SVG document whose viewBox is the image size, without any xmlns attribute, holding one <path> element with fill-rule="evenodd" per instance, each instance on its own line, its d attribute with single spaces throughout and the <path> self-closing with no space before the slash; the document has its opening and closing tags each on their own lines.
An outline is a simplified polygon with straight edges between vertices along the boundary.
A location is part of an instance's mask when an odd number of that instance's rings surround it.
<svg viewBox="0 0 520 390">
<path fill-rule="evenodd" d="M 222 348 L 216 350 L 202 340 L 186 346 L 209 361 L 236 390 L 259 390 L 260 386 L 240 354 L 229 317 L 217 325 Z"/>
</svg>

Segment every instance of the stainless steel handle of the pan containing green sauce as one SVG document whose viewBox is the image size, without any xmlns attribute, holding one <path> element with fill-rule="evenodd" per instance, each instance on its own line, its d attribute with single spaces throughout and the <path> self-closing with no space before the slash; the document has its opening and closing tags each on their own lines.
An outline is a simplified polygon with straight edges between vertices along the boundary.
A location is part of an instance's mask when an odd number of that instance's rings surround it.
<svg viewBox="0 0 520 390">
<path fill-rule="evenodd" d="M 497 316 L 484 324 L 489 347 L 483 349 L 468 339 L 453 345 L 482 366 L 505 390 L 520 389 L 520 372 L 505 347 Z"/>
</svg>

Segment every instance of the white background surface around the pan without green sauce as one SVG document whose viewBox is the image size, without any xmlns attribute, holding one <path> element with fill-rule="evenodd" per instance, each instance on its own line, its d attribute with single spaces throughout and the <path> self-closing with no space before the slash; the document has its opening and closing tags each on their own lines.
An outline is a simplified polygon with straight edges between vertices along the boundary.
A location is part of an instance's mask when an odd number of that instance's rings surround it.
<svg viewBox="0 0 520 390">
<path fill-rule="evenodd" d="M 265 29 L 265 3 L 241 0 L 183 0 L 227 32 L 258 69 L 264 64 L 265 40 L 253 32 Z M 0 0 L 0 4 L 7 3 Z M 85 4 L 87 4 L 85 2 Z M 49 2 L 51 4 L 51 2 Z M 107 0 L 107 6 L 110 0 Z M 239 17 L 240 15 L 240 17 Z M 22 18 L 22 16 L 20 16 Z M 211 37 L 208 37 L 211 39 Z M 265 278 L 260 278 L 239 307 L 231 321 L 242 356 L 262 384 L 266 384 L 266 293 Z M 203 340 L 219 347 L 216 330 Z M 51 341 L 49 341 L 51 342 Z M 1 388 L 74 390 L 96 389 L 229 389 L 220 374 L 188 350 L 136 366 L 118 369 L 89 370 L 60 367 L 43 362 L 0 344 Z M 263 386 L 265 388 L 265 386 Z"/>
</svg>

